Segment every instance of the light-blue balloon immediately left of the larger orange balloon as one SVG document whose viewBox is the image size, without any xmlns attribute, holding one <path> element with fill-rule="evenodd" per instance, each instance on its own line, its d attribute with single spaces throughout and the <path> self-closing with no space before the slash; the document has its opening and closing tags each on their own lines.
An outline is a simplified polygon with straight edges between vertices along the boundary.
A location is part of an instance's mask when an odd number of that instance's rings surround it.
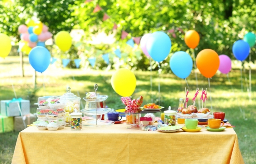
<svg viewBox="0 0 256 164">
<path fill-rule="evenodd" d="M 185 79 L 191 73 L 193 61 L 189 54 L 184 51 L 178 51 L 172 55 L 170 67 L 177 77 Z"/>
</svg>

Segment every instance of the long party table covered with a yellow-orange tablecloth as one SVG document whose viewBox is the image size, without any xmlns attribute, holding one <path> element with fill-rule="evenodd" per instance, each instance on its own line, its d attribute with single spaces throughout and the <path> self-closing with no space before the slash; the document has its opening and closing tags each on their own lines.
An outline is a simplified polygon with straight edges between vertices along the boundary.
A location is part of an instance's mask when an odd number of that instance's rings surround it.
<svg viewBox="0 0 256 164">
<path fill-rule="evenodd" d="M 156 123 L 155 123 L 156 124 Z M 184 124 L 183 124 L 184 125 Z M 222 132 L 174 133 L 126 129 L 125 123 L 105 129 L 38 130 L 19 133 L 12 163 L 83 164 L 243 164 L 233 128 Z"/>
</svg>

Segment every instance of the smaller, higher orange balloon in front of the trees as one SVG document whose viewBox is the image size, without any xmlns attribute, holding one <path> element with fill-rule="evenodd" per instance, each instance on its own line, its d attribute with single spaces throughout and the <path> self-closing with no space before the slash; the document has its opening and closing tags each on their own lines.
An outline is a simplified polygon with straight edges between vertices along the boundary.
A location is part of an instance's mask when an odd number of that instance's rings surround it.
<svg viewBox="0 0 256 164">
<path fill-rule="evenodd" d="M 195 30 L 188 30 L 184 37 L 185 43 L 189 48 L 196 48 L 200 41 L 200 36 Z"/>
</svg>

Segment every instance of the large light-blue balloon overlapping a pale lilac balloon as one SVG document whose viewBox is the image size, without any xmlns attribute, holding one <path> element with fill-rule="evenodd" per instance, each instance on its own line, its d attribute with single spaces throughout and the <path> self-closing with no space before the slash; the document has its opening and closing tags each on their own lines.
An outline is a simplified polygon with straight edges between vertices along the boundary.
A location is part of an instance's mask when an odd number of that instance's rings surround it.
<svg viewBox="0 0 256 164">
<path fill-rule="evenodd" d="M 156 62 L 162 62 L 169 55 L 171 46 L 171 39 L 161 31 L 152 33 L 146 43 L 148 54 Z"/>
</svg>

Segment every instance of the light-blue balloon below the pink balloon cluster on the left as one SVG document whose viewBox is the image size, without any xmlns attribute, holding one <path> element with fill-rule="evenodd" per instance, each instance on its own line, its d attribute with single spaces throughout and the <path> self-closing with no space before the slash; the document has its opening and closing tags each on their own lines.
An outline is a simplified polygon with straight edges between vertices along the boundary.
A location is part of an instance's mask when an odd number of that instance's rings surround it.
<svg viewBox="0 0 256 164">
<path fill-rule="evenodd" d="M 29 63 L 38 72 L 44 72 L 51 60 L 50 52 L 42 46 L 32 48 L 29 52 Z"/>
</svg>

